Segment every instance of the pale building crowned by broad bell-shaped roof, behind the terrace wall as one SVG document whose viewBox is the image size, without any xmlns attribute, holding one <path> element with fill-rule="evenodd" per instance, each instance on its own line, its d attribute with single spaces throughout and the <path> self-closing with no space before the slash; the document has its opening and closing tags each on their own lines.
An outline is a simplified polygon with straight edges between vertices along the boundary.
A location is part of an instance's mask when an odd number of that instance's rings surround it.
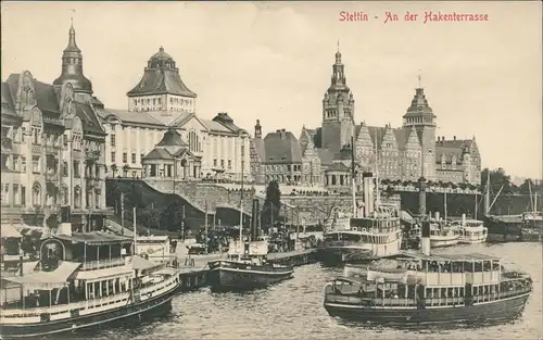
<svg viewBox="0 0 543 340">
<path fill-rule="evenodd" d="M 200 160 L 198 173 L 190 172 L 185 179 L 240 180 L 243 173 L 244 180 L 251 180 L 249 152 L 244 162 L 241 158 L 242 148 L 249 150 L 248 133 L 226 112 L 213 119 L 198 116 L 197 98 L 182 81 L 175 60 L 161 47 L 147 62 L 141 80 L 128 91 L 128 110 L 98 110 L 106 134 L 110 176 L 149 177 L 146 156 L 166 131 L 175 129 Z"/>
</svg>

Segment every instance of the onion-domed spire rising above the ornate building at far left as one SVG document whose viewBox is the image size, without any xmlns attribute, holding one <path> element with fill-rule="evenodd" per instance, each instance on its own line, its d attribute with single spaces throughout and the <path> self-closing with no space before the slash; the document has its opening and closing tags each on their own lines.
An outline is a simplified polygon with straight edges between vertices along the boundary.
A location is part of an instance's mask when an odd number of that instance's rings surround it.
<svg viewBox="0 0 543 340">
<path fill-rule="evenodd" d="M 68 45 L 62 53 L 62 73 L 53 85 L 62 88 L 66 83 L 72 85 L 76 101 L 90 102 L 92 83 L 83 74 L 83 54 L 75 41 L 74 23 L 70 27 Z"/>
</svg>

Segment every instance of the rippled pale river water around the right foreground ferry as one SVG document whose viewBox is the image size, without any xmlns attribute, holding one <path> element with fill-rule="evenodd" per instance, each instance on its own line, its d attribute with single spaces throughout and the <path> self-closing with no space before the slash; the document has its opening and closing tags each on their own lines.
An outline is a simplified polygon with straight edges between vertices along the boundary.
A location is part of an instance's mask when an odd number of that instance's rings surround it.
<svg viewBox="0 0 543 340">
<path fill-rule="evenodd" d="M 346 324 L 330 317 L 323 307 L 325 282 L 342 270 L 313 264 L 298 267 L 293 279 L 266 290 L 212 293 L 202 289 L 180 294 L 174 298 L 169 315 L 141 325 L 104 329 L 93 339 L 542 339 L 540 243 L 477 244 L 433 252 L 497 255 L 505 259 L 506 266 L 528 272 L 534 291 L 522 316 L 509 323 L 477 327 L 394 329 Z"/>
</svg>

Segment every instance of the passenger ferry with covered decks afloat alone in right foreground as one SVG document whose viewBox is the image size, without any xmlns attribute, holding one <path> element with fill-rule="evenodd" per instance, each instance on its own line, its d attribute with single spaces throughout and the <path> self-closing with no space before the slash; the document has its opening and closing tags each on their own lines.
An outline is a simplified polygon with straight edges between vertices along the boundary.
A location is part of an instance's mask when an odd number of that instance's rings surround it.
<svg viewBox="0 0 543 340">
<path fill-rule="evenodd" d="M 424 254 L 377 262 L 328 282 L 327 312 L 384 324 L 477 323 L 521 313 L 532 291 L 529 275 L 483 254 L 430 255 L 429 223 L 424 228 Z"/>
</svg>

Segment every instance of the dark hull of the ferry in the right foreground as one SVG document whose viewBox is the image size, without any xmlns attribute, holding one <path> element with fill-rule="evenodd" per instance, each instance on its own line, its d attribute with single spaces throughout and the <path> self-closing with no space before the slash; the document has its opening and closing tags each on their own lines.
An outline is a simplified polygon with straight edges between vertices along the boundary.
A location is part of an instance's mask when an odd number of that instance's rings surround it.
<svg viewBox="0 0 543 340">
<path fill-rule="evenodd" d="M 449 324 L 477 320 L 510 319 L 522 312 L 530 293 L 471 306 L 365 307 L 325 302 L 331 316 L 378 324 Z"/>
</svg>

